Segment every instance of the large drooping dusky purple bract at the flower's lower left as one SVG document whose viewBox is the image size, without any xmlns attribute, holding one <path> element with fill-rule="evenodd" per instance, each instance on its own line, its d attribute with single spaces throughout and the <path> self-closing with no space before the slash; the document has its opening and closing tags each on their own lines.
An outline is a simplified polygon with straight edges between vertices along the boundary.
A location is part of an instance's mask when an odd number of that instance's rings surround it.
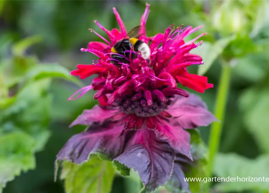
<svg viewBox="0 0 269 193">
<path fill-rule="evenodd" d="M 73 135 L 57 154 L 57 160 L 82 163 L 90 153 L 102 153 L 107 158 L 117 157 L 124 147 L 124 125 L 92 125 L 86 131 Z"/>
</svg>

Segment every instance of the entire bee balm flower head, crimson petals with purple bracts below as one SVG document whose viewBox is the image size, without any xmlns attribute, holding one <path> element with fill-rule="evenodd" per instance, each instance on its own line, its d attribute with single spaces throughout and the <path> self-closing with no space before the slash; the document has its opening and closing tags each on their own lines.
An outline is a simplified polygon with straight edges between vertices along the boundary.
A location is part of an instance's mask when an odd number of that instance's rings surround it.
<svg viewBox="0 0 269 193">
<path fill-rule="evenodd" d="M 113 11 L 120 31 L 109 31 L 95 21 L 107 33 L 109 41 L 92 30 L 105 43 L 90 42 L 88 48 L 81 51 L 90 52 L 99 59 L 92 65 L 77 65 L 78 69 L 71 71 L 81 79 L 92 74 L 98 76 L 69 100 L 93 89 L 96 90 L 94 99 L 99 100 L 100 106 L 84 110 L 70 125 L 87 125 L 88 128 L 69 139 L 57 160 L 81 163 L 90 153 L 103 153 L 137 170 L 145 185 L 144 191 L 151 192 L 170 178 L 178 155 L 191 162 L 190 134 L 186 129 L 206 126 L 215 120 L 199 97 L 177 88 L 180 83 L 203 93 L 213 87 L 206 77 L 189 74 L 186 69 L 189 65 L 203 64 L 199 55 L 189 51 L 201 45 L 194 41 L 205 34 L 185 42 L 186 36 L 202 26 L 182 29 L 172 25 L 164 33 L 147 37 L 147 4 L 138 39 L 149 44 L 150 58 L 143 58 L 131 48 L 120 55 L 126 62 L 117 60 L 114 65 L 116 59 L 111 55 L 115 53 L 111 48 L 127 36 L 127 31 L 117 10 L 113 8 Z M 80 94 L 74 98 L 77 93 Z M 181 188 L 187 189 L 188 185 L 183 184 Z"/>
</svg>

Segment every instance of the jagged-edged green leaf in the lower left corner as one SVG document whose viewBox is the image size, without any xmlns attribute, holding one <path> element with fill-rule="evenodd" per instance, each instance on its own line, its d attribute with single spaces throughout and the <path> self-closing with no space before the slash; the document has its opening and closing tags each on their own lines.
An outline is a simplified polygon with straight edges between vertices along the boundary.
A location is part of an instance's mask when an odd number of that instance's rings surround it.
<svg viewBox="0 0 269 193">
<path fill-rule="evenodd" d="M 28 134 L 15 131 L 0 137 L 0 191 L 22 171 L 35 168 L 35 141 Z"/>
</svg>

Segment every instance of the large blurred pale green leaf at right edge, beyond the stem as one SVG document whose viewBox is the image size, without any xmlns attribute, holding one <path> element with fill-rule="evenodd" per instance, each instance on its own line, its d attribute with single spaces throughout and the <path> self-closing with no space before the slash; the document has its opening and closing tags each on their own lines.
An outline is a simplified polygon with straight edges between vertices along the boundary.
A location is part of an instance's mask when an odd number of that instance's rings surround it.
<svg viewBox="0 0 269 193">
<path fill-rule="evenodd" d="M 250 88 L 239 98 L 239 107 L 244 112 L 246 128 L 253 135 L 259 147 L 269 153 L 269 88 Z"/>
</svg>

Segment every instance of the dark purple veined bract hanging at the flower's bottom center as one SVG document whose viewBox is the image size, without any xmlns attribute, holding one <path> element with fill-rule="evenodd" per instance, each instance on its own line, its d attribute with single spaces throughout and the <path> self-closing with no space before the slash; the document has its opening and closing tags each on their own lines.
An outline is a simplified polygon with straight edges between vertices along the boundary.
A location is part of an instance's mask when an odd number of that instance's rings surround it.
<svg viewBox="0 0 269 193">
<path fill-rule="evenodd" d="M 156 138 L 154 131 L 142 128 L 135 132 L 126 150 L 115 160 L 138 172 L 144 188 L 142 193 L 154 191 L 169 180 L 175 159 L 170 145 Z"/>
</svg>

